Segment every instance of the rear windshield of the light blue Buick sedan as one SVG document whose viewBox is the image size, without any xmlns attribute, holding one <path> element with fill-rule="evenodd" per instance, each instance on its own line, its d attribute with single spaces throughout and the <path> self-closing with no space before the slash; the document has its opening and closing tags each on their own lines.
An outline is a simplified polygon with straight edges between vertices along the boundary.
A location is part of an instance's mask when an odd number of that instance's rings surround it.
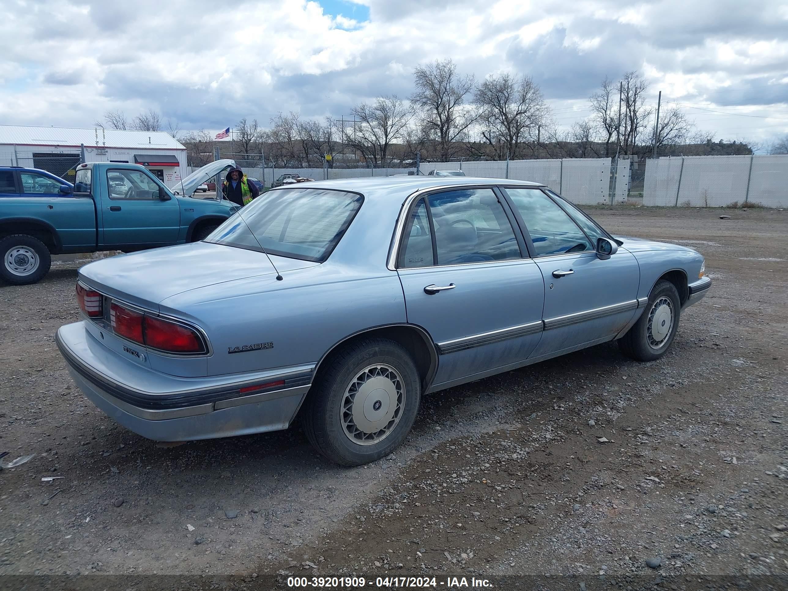
<svg viewBox="0 0 788 591">
<path fill-rule="evenodd" d="M 269 255 L 323 262 L 361 207 L 363 197 L 344 191 L 290 188 L 262 193 L 205 240 L 263 249 Z"/>
</svg>

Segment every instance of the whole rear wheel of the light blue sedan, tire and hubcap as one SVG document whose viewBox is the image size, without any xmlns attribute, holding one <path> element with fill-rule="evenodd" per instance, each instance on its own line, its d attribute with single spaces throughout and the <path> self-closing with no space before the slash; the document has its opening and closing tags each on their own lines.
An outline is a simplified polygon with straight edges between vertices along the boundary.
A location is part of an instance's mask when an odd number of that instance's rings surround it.
<svg viewBox="0 0 788 591">
<path fill-rule="evenodd" d="M 325 363 L 303 410 L 310 443 L 343 466 L 391 453 L 411 430 L 421 398 L 411 356 L 393 340 L 370 338 Z"/>
</svg>

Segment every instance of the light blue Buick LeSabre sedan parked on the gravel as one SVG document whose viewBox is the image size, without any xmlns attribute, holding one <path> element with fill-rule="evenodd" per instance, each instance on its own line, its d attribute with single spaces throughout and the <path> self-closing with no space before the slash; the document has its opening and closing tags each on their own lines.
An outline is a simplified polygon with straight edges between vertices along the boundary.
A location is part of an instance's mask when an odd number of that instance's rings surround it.
<svg viewBox="0 0 788 591">
<path fill-rule="evenodd" d="M 74 381 L 143 437 L 287 429 L 379 459 L 422 394 L 618 340 L 671 346 L 711 280 L 696 251 L 611 236 L 536 183 L 470 177 L 273 189 L 205 240 L 80 269 L 58 330 Z"/>
</svg>

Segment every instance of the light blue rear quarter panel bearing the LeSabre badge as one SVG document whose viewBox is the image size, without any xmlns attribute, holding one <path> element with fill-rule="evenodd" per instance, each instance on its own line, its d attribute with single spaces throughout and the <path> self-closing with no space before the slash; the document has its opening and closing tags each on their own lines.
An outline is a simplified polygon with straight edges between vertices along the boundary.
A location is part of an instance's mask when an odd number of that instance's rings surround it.
<svg viewBox="0 0 788 591">
<path fill-rule="evenodd" d="M 396 272 L 370 276 L 325 262 L 282 274 L 282 281 L 266 275 L 195 289 L 163 300 L 160 308 L 205 330 L 213 349 L 207 375 L 317 363 L 347 336 L 407 322 Z M 229 352 L 260 343 L 266 348 Z M 177 374 L 180 361 L 160 370 Z"/>
</svg>

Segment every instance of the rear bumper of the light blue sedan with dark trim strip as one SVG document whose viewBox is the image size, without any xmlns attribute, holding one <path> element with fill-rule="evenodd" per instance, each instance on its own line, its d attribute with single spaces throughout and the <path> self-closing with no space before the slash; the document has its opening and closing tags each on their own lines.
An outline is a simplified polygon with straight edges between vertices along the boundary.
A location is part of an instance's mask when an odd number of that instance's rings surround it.
<svg viewBox="0 0 788 591">
<path fill-rule="evenodd" d="M 213 377 L 175 377 L 120 358 L 82 322 L 56 341 L 76 385 L 121 425 L 157 441 L 232 437 L 287 429 L 309 390 L 313 365 Z M 241 388 L 258 388 L 249 394 Z"/>
</svg>

